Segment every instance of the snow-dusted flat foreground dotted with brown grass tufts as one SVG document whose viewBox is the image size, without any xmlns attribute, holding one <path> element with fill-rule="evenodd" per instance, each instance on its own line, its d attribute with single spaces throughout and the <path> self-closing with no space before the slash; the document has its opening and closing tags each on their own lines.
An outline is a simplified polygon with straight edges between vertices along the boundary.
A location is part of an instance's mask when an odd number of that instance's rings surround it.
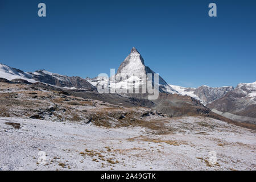
<svg viewBox="0 0 256 182">
<path fill-rule="evenodd" d="M 115 128 L 0 118 L 0 169 L 255 170 L 255 137 L 253 130 L 203 117 Z M 45 164 L 38 163 L 42 151 Z M 217 153 L 212 166 L 210 151 Z"/>
</svg>

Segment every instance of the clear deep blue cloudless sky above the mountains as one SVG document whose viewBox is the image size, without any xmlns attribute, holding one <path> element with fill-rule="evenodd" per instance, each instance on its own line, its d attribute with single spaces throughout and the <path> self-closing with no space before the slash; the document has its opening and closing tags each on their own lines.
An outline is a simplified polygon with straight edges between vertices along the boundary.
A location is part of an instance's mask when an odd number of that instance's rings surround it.
<svg viewBox="0 0 256 182">
<path fill-rule="evenodd" d="M 254 82 L 256 1 L 0 1 L 0 63 L 11 67 L 96 77 L 132 47 L 170 84 Z"/>
</svg>

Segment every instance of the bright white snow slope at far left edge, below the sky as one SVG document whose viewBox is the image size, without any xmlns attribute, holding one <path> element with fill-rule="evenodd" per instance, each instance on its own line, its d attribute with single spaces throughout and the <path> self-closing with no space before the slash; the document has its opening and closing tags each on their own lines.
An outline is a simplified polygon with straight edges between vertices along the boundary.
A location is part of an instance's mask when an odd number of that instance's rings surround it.
<svg viewBox="0 0 256 182">
<path fill-rule="evenodd" d="M 29 82 L 36 82 L 32 79 L 32 76 L 29 73 L 24 73 L 19 69 L 11 68 L 2 63 L 0 63 L 0 78 L 6 78 L 10 81 L 14 79 L 23 79 Z"/>
</svg>

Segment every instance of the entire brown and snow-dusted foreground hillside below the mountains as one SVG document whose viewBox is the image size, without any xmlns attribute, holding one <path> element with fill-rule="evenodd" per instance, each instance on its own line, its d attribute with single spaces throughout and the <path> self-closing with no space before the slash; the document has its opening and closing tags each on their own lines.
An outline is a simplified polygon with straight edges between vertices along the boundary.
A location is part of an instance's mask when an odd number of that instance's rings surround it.
<svg viewBox="0 0 256 182">
<path fill-rule="evenodd" d="M 189 96 L 161 93 L 156 108 L 143 98 L 0 81 L 1 170 L 255 170 L 254 130 L 225 118 L 170 118 L 158 111 L 210 114 Z M 217 163 L 210 166 L 212 150 Z M 46 164 L 38 163 L 39 151 L 46 152 Z"/>
</svg>

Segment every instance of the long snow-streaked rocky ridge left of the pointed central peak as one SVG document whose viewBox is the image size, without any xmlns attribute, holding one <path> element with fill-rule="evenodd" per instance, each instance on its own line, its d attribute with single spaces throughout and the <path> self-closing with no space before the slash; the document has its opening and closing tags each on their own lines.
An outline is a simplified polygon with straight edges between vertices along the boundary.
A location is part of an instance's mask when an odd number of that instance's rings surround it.
<svg viewBox="0 0 256 182">
<path fill-rule="evenodd" d="M 55 85 L 67 89 L 85 89 L 96 90 L 86 79 L 81 77 L 68 77 L 59 75 L 57 73 L 51 73 L 45 70 L 39 70 L 35 72 L 23 72 L 20 69 L 11 68 L 5 64 L 0 64 L 0 77 L 7 80 L 26 80 L 28 82 L 43 82 L 50 85 Z"/>
</svg>

